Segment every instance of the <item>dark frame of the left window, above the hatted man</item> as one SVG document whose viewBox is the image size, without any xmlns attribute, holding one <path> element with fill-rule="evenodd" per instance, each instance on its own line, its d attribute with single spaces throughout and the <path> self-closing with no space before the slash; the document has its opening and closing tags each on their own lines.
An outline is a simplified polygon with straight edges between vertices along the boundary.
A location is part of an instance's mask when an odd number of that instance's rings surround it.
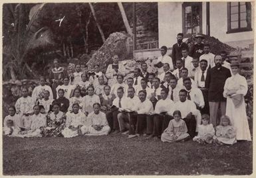
<svg viewBox="0 0 256 178">
<path fill-rule="evenodd" d="M 188 6 L 192 6 L 192 5 L 198 5 L 199 6 L 199 16 L 200 16 L 200 22 L 199 22 L 199 33 L 202 33 L 203 31 L 203 3 L 202 2 L 186 2 L 186 3 L 182 3 L 182 32 L 184 34 L 185 38 L 189 38 L 191 37 L 194 33 L 192 34 L 186 34 L 186 24 L 185 24 L 185 8 Z"/>
</svg>

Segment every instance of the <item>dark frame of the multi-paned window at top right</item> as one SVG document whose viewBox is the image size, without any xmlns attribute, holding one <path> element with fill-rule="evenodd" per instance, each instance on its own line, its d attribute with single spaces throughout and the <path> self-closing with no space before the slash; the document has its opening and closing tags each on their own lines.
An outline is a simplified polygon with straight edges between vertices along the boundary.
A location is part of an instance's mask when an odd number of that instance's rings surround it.
<svg viewBox="0 0 256 178">
<path fill-rule="evenodd" d="M 226 34 L 235 33 L 235 32 L 248 32 L 248 31 L 253 30 L 253 28 L 251 28 L 251 17 L 249 19 L 250 26 L 242 27 L 242 28 L 240 27 L 241 26 L 241 24 L 240 24 L 240 14 L 241 14 L 240 2 L 237 2 L 237 3 L 238 3 L 238 28 L 235 28 L 235 29 L 231 29 L 231 2 L 227 3 L 227 32 L 226 32 Z M 250 2 L 245 2 L 245 3 L 249 3 L 249 5 L 250 5 L 249 11 L 251 13 L 251 3 Z"/>
</svg>

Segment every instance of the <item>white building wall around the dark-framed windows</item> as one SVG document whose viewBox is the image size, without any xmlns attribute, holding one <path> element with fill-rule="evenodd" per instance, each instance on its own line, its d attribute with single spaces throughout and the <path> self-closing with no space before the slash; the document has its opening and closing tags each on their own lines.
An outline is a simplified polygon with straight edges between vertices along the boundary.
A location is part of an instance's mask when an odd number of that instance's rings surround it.
<svg viewBox="0 0 256 178">
<path fill-rule="evenodd" d="M 227 2 L 210 3 L 210 36 L 218 38 L 233 47 L 248 47 L 253 44 L 254 32 L 227 34 Z M 254 28 L 254 8 L 252 4 L 252 28 Z M 254 29 L 253 29 L 254 30 Z M 176 35 L 182 32 L 182 3 L 158 3 L 159 46 L 171 48 L 176 43 Z M 206 34 L 206 2 L 202 3 L 202 32 Z"/>
</svg>

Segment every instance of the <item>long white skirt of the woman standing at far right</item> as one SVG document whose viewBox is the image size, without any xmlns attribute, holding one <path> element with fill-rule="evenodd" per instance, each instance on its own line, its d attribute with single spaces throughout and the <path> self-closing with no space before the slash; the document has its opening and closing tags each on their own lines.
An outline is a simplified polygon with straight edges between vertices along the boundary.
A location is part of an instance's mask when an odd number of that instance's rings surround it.
<svg viewBox="0 0 256 178">
<path fill-rule="evenodd" d="M 245 100 L 237 108 L 231 98 L 227 97 L 226 115 L 229 116 L 231 124 L 236 128 L 237 140 L 251 141 L 251 134 L 245 110 Z"/>
</svg>

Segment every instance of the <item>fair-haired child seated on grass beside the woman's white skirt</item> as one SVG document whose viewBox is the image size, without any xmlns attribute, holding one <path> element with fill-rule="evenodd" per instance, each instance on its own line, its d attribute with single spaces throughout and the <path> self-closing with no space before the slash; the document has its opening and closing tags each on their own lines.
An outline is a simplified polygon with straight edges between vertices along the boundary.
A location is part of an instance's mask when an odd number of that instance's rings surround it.
<svg viewBox="0 0 256 178">
<path fill-rule="evenodd" d="M 214 141 L 216 144 L 235 144 L 237 142 L 235 128 L 231 126 L 229 116 L 221 116 L 221 122 L 216 127 Z"/>
</svg>

